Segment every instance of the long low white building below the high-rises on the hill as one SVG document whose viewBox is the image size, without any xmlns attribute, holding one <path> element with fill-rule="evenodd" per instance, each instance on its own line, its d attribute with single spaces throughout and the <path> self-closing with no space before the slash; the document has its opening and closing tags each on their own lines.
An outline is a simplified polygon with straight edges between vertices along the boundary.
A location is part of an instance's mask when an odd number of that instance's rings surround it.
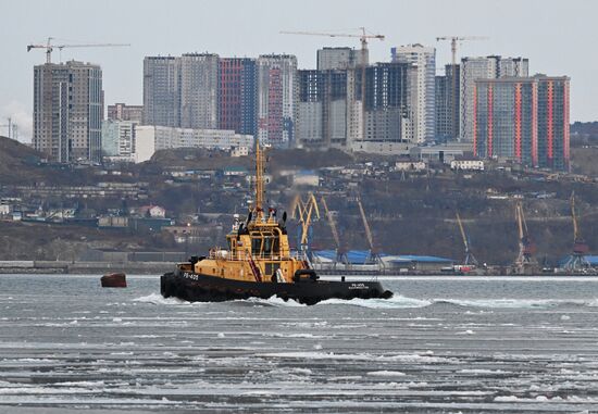
<svg viewBox="0 0 598 414">
<path fill-rule="evenodd" d="M 253 148 L 253 136 L 229 129 L 188 129 L 169 126 L 141 125 L 136 128 L 135 162 L 151 159 L 159 150 L 172 148 L 205 148 L 232 150 Z"/>
</svg>

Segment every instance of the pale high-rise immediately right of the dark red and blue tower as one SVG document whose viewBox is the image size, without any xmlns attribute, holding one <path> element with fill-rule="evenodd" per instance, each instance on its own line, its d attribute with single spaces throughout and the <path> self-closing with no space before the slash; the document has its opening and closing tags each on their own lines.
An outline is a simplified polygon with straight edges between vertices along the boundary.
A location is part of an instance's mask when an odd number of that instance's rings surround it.
<svg viewBox="0 0 598 414">
<path fill-rule="evenodd" d="M 295 146 L 297 121 L 297 58 L 266 54 L 258 58 L 258 139 L 273 147 Z"/>
</svg>

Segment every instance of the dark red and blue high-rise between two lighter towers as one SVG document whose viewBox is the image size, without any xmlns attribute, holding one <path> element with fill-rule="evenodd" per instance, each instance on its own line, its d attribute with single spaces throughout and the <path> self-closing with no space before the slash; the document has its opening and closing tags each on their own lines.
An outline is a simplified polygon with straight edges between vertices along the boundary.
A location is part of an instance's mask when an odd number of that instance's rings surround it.
<svg viewBox="0 0 598 414">
<path fill-rule="evenodd" d="M 254 59 L 219 62 L 219 129 L 254 135 L 258 112 L 258 65 Z"/>
</svg>

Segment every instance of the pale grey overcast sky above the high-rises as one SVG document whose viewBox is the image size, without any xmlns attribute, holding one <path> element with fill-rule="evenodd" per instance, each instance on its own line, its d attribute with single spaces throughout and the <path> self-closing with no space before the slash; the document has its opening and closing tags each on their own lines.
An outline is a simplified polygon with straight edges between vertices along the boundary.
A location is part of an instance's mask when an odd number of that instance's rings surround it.
<svg viewBox="0 0 598 414">
<path fill-rule="evenodd" d="M 437 66 L 450 61 L 444 35 L 488 36 L 461 45 L 459 55 L 530 59 L 531 73 L 572 78 L 572 121 L 598 120 L 598 1 L 594 0 L 0 0 L 0 124 L 12 116 L 21 140 L 30 140 L 33 66 L 43 50 L 28 43 L 122 42 L 127 48 L 54 51 L 53 61 L 83 60 L 103 70 L 105 103 L 142 103 L 146 55 L 213 52 L 221 57 L 296 54 L 315 66 L 323 46 L 359 48 L 359 39 L 281 35 L 281 30 L 346 30 L 365 26 L 371 61 L 390 48 L 420 42 L 437 48 Z M 5 135 L 5 129 L 0 128 Z"/>
</svg>

